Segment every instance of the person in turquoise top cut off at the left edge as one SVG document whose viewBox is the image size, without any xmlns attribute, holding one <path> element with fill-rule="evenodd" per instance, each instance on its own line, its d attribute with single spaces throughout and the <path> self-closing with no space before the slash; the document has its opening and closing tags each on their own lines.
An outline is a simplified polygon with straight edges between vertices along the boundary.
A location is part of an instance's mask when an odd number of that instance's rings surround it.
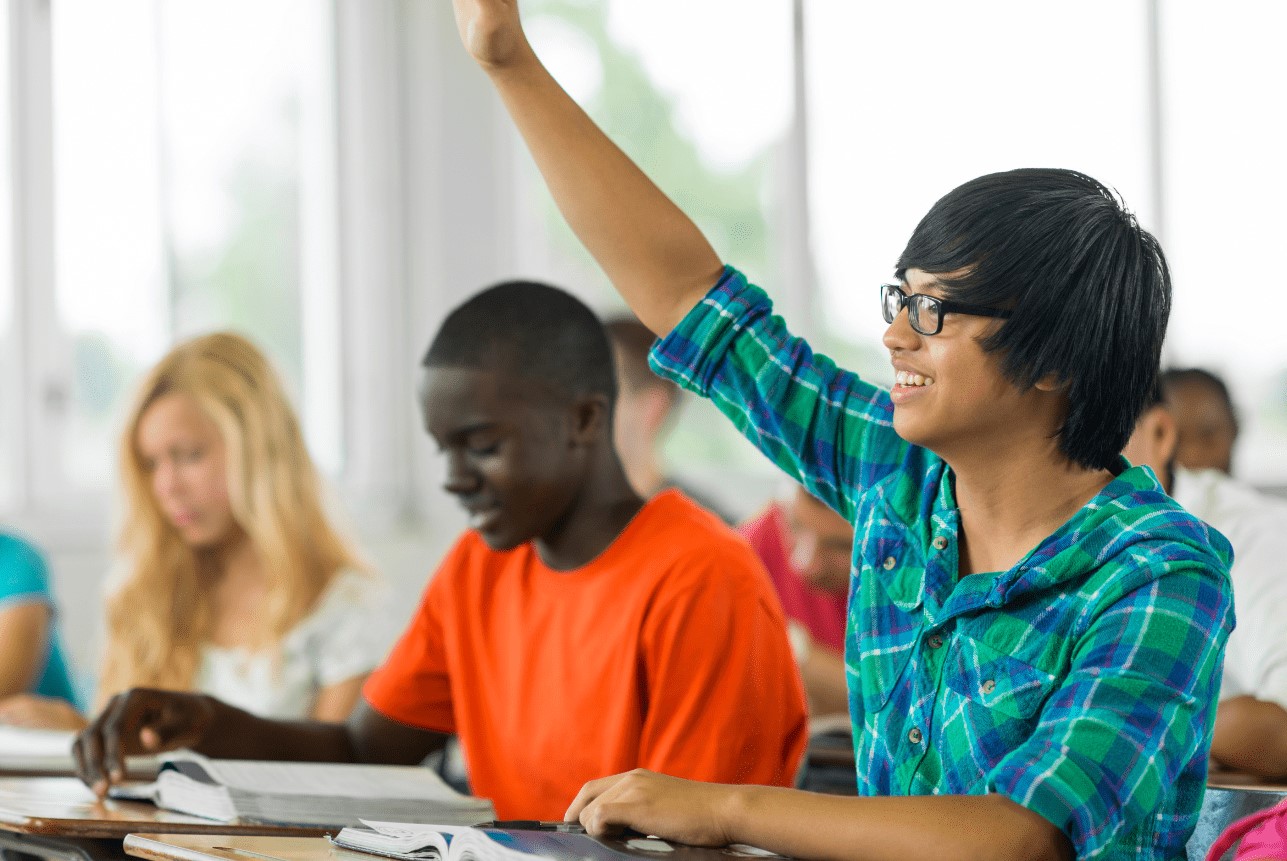
<svg viewBox="0 0 1287 861">
<path fill-rule="evenodd" d="M 40 551 L 0 529 L 0 698 L 76 699 L 55 619 Z"/>
</svg>

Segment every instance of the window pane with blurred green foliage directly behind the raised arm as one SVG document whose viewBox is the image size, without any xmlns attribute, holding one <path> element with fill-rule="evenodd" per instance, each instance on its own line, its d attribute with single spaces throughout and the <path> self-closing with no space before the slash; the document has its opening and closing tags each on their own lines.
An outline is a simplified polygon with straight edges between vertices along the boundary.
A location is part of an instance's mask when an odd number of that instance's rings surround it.
<svg viewBox="0 0 1287 861">
<path fill-rule="evenodd" d="M 780 284 L 782 144 L 795 107 L 792 3 L 538 0 L 524 12 L 530 39 L 553 75 L 698 221 L 721 256 L 753 281 Z M 520 160 L 520 210 L 526 212 L 517 239 L 521 272 L 580 293 L 602 313 L 622 310 L 535 166 L 525 153 Z M 683 409 L 667 444 L 668 459 L 681 471 L 696 471 L 696 483 L 713 495 L 721 497 L 717 472 L 721 481 L 730 472 L 734 480 L 746 471 L 771 474 L 713 407 L 691 403 Z M 735 502 L 726 505 L 736 511 Z M 744 508 L 745 499 L 740 502 Z"/>
</svg>

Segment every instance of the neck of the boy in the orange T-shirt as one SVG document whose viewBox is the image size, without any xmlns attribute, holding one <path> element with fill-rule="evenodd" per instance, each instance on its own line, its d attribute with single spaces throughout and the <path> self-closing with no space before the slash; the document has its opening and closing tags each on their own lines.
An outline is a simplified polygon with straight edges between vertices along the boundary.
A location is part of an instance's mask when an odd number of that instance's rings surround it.
<svg viewBox="0 0 1287 861">
<path fill-rule="evenodd" d="M 556 571 L 570 571 L 596 559 L 644 507 L 611 445 L 601 447 L 589 471 L 591 477 L 564 516 L 535 541 L 541 561 Z"/>
</svg>

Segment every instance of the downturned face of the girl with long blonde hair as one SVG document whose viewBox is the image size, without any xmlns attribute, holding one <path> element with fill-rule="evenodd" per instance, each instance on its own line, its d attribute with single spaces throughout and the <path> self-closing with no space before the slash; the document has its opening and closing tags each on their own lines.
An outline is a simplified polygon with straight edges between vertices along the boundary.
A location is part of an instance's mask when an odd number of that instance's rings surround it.
<svg viewBox="0 0 1287 861">
<path fill-rule="evenodd" d="M 157 507 L 184 543 L 215 547 L 239 532 L 223 436 L 192 398 L 157 398 L 139 418 L 135 448 Z"/>
</svg>

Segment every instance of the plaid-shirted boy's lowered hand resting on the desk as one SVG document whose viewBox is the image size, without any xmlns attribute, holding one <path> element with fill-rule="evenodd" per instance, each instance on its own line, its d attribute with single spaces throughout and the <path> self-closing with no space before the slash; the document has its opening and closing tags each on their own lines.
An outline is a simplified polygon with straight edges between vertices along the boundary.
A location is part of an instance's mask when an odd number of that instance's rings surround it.
<svg viewBox="0 0 1287 861">
<path fill-rule="evenodd" d="M 579 820 L 595 837 L 631 828 L 690 846 L 727 846 L 734 837 L 725 812 L 735 794 L 734 786 L 636 768 L 582 786 L 564 819 Z"/>
</svg>

